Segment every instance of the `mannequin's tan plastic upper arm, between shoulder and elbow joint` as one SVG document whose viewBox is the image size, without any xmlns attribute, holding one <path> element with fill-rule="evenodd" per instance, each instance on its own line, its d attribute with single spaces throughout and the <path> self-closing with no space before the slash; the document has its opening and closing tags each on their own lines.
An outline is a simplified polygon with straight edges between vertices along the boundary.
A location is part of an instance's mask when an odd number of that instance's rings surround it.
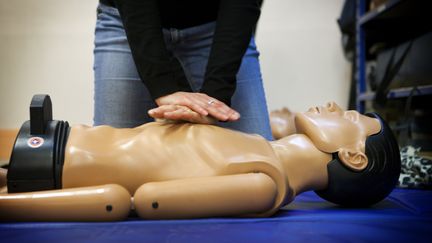
<svg viewBox="0 0 432 243">
<path fill-rule="evenodd" d="M 276 196 L 269 176 L 250 173 L 146 183 L 134 204 L 147 219 L 241 216 L 270 210 Z"/>
</svg>

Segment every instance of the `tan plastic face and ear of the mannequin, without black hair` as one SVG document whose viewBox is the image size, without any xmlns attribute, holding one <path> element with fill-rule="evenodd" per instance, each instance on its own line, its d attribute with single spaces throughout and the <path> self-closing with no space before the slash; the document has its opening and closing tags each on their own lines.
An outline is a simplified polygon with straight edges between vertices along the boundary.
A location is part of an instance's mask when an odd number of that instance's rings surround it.
<svg viewBox="0 0 432 243">
<path fill-rule="evenodd" d="M 356 170 L 367 165 L 366 138 L 381 130 L 377 119 L 357 111 L 344 111 L 334 102 L 297 114 L 295 122 L 297 130 L 308 136 L 319 150 L 338 152 L 342 160 L 349 157 L 345 160 L 357 163 Z"/>
</svg>

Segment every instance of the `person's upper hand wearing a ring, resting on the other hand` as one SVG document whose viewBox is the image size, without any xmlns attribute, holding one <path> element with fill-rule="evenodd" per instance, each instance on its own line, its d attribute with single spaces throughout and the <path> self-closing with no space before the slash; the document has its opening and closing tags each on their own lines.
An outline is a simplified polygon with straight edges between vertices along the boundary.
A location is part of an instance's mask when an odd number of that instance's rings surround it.
<svg viewBox="0 0 432 243">
<path fill-rule="evenodd" d="M 156 99 L 156 104 L 158 106 L 186 106 L 199 115 L 211 115 L 219 121 L 236 121 L 240 118 L 240 114 L 237 111 L 231 109 L 223 102 L 203 93 L 175 92 L 173 94 L 159 97 Z"/>
</svg>

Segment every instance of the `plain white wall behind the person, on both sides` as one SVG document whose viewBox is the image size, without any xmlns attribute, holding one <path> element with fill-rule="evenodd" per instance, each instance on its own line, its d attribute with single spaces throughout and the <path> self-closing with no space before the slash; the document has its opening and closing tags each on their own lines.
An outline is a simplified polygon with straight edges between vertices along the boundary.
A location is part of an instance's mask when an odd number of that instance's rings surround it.
<svg viewBox="0 0 432 243">
<path fill-rule="evenodd" d="M 257 42 L 270 109 L 348 97 L 336 18 L 342 0 L 265 0 Z M 33 94 L 54 117 L 92 124 L 97 0 L 0 0 L 0 128 L 28 119 Z"/>
</svg>

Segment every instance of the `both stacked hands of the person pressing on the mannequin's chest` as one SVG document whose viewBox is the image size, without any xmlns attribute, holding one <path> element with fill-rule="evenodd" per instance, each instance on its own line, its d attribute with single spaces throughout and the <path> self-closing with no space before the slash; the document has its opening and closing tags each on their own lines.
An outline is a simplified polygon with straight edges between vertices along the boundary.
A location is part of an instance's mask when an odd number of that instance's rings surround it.
<svg viewBox="0 0 432 243">
<path fill-rule="evenodd" d="M 212 124 L 219 121 L 236 121 L 240 114 L 203 93 L 176 92 L 156 99 L 157 108 L 148 111 L 158 119 L 185 120 Z"/>
</svg>

